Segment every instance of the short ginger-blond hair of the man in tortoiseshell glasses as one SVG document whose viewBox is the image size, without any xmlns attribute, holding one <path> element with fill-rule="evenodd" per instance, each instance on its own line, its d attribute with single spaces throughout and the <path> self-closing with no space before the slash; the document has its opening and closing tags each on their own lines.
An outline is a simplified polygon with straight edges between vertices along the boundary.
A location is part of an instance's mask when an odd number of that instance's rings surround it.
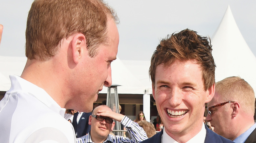
<svg viewBox="0 0 256 143">
<path fill-rule="evenodd" d="M 239 102 L 245 113 L 254 115 L 254 91 L 244 79 L 238 76 L 227 77 L 215 84 L 215 92 L 220 95 L 223 102 Z"/>
</svg>

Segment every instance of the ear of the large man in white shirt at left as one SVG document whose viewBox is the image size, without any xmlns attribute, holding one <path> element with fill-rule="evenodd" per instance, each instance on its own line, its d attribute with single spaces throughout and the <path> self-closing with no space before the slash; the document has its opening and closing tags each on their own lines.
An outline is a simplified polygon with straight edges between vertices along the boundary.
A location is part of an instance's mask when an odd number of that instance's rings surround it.
<svg viewBox="0 0 256 143">
<path fill-rule="evenodd" d="M 75 64 L 79 62 L 82 54 L 87 53 L 87 45 L 85 36 L 81 33 L 75 34 L 71 41 L 73 61 Z"/>
</svg>

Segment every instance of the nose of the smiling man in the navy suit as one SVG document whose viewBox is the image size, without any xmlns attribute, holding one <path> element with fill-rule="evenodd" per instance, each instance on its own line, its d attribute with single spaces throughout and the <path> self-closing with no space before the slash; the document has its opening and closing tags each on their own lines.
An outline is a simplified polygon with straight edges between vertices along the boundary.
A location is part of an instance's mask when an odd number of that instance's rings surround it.
<svg viewBox="0 0 256 143">
<path fill-rule="evenodd" d="M 169 103 L 172 107 L 177 107 L 182 103 L 182 94 L 179 89 L 171 89 Z"/>
</svg>

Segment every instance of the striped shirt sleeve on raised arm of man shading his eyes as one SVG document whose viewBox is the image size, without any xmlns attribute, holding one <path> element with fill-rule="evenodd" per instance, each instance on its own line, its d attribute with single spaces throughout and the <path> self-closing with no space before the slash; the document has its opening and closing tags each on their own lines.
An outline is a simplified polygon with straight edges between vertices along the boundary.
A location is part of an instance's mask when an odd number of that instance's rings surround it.
<svg viewBox="0 0 256 143">
<path fill-rule="evenodd" d="M 131 139 L 126 138 L 129 139 L 130 142 L 139 143 L 148 138 L 143 128 L 140 127 L 138 123 L 129 119 L 127 116 L 124 116 L 124 118 L 121 120 L 121 123 L 124 125 L 124 127 L 127 129 L 127 132 L 131 136 Z"/>
</svg>

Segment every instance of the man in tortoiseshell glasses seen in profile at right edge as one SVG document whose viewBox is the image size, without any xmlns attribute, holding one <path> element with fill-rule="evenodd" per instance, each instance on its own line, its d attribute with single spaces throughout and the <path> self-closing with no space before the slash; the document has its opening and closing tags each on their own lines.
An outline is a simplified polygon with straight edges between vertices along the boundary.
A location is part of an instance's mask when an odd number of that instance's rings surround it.
<svg viewBox="0 0 256 143">
<path fill-rule="evenodd" d="M 207 111 L 206 121 L 215 133 L 236 143 L 256 142 L 255 95 L 244 79 L 233 76 L 217 82 Z"/>
</svg>

